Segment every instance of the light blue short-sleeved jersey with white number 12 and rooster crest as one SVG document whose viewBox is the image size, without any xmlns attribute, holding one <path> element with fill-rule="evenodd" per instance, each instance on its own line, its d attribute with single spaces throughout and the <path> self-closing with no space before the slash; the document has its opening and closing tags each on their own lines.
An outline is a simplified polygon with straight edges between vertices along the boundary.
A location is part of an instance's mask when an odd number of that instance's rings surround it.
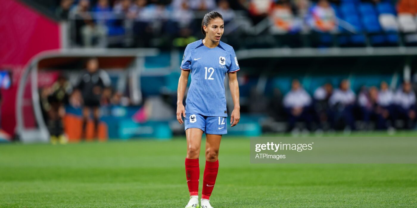
<svg viewBox="0 0 417 208">
<path fill-rule="evenodd" d="M 186 99 L 186 114 L 226 117 L 224 78 L 239 71 L 233 47 L 224 42 L 208 48 L 203 40 L 187 45 L 182 70 L 190 70 L 191 84 Z"/>
</svg>

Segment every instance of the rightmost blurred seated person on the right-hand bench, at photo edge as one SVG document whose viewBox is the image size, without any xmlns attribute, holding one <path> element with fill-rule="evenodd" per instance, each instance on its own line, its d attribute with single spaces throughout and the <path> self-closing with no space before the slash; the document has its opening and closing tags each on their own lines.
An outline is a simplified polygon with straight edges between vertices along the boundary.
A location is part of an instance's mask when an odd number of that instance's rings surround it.
<svg viewBox="0 0 417 208">
<path fill-rule="evenodd" d="M 406 124 L 406 128 L 414 128 L 416 119 L 416 96 L 411 88 L 410 82 L 402 83 L 402 89 L 395 94 L 395 102 L 397 104 L 397 116 Z"/>
</svg>

